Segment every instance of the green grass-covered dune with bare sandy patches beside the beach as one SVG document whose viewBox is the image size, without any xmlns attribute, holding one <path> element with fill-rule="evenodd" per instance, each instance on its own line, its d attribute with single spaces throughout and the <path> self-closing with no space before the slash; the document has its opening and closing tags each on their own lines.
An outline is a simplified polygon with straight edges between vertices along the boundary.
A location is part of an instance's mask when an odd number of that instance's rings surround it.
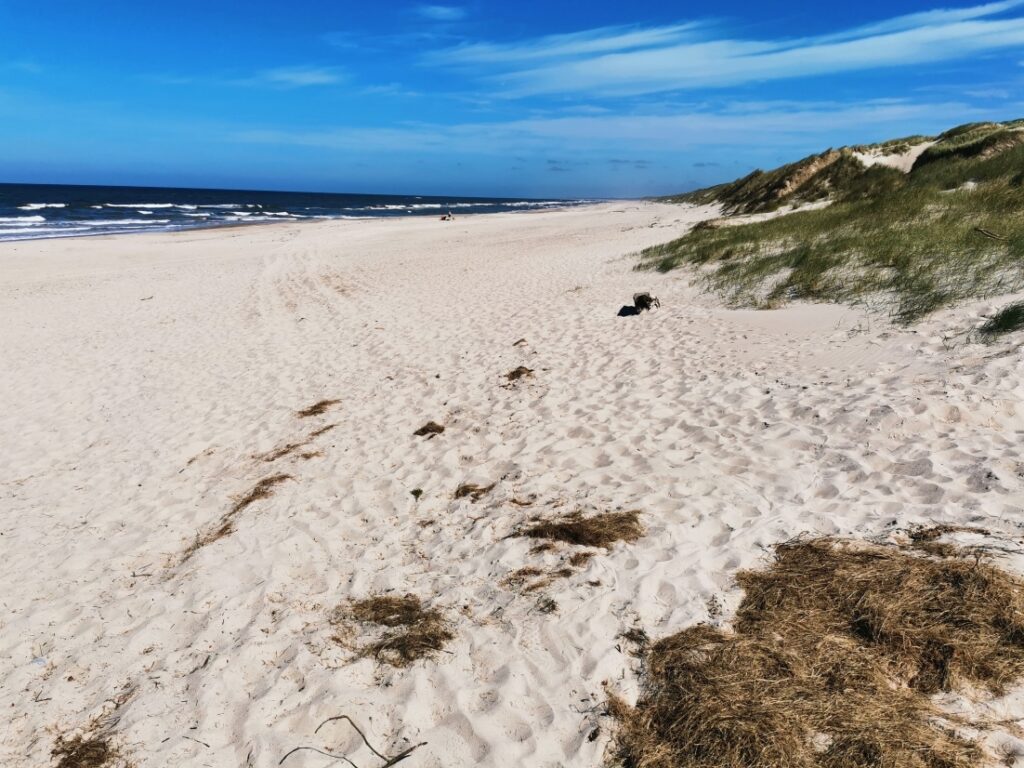
<svg viewBox="0 0 1024 768">
<path fill-rule="evenodd" d="M 872 156 L 913 164 L 865 164 Z M 726 218 L 647 249 L 641 268 L 702 267 L 734 306 L 869 301 L 912 323 L 1024 288 L 1024 120 L 828 151 L 667 200 L 717 203 Z M 819 201 L 829 205 L 735 218 Z"/>
</svg>

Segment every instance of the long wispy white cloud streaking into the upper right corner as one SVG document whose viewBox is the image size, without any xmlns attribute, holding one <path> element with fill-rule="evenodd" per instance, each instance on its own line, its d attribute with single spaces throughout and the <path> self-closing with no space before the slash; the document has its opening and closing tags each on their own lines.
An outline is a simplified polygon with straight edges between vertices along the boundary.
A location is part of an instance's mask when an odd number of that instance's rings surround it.
<svg viewBox="0 0 1024 768">
<path fill-rule="evenodd" d="M 702 24 L 603 28 L 512 44 L 434 51 L 434 65 L 476 65 L 505 95 L 629 96 L 719 88 L 963 59 L 1024 47 L 1024 0 L 896 16 L 798 40 L 744 40 Z"/>
</svg>

